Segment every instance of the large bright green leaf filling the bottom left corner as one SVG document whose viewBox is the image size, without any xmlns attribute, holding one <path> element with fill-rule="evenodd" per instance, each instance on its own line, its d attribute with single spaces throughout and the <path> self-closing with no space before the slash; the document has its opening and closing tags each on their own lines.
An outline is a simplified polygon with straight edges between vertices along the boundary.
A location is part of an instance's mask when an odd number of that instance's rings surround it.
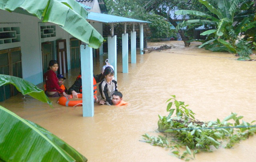
<svg viewBox="0 0 256 162">
<path fill-rule="evenodd" d="M 36 124 L 26 121 L 2 106 L 0 116 L 0 159 L 33 162 L 87 161 L 57 136 L 40 126 L 35 127 Z"/>
</svg>

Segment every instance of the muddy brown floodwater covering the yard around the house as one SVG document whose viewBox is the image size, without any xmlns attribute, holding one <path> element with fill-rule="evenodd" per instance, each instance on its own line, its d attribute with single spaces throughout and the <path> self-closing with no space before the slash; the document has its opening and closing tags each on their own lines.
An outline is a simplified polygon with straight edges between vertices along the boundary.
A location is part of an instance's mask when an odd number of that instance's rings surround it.
<svg viewBox="0 0 256 162">
<path fill-rule="evenodd" d="M 202 121 L 223 119 L 231 112 L 248 122 L 256 119 L 256 61 L 237 61 L 229 53 L 199 49 L 197 43 L 184 47 L 182 41 L 164 41 L 148 46 L 164 44 L 173 48 L 137 54 L 129 73 L 121 72 L 118 56 L 118 88 L 129 105 L 95 104 L 94 116 L 82 117 L 82 107 L 59 105 L 57 98 L 51 98 L 54 108 L 22 95 L 0 104 L 45 127 L 93 162 L 184 161 L 169 155 L 168 149 L 139 141 L 144 133 L 158 134 L 158 114 L 167 115 L 166 100 L 172 94 L 189 104 Z M 94 60 L 94 73 L 100 73 L 105 58 Z M 66 74 L 67 87 L 78 72 Z M 196 154 L 194 161 L 256 161 L 256 136 L 231 149 Z"/>
</svg>

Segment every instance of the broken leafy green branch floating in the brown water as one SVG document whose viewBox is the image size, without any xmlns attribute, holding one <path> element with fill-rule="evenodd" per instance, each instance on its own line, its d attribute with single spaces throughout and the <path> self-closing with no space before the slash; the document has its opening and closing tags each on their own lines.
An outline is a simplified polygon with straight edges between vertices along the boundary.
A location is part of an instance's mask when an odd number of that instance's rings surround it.
<svg viewBox="0 0 256 162">
<path fill-rule="evenodd" d="M 168 99 L 168 116 L 159 116 L 158 130 L 164 136 L 143 135 L 145 142 L 170 148 L 171 154 L 188 161 L 195 158 L 195 153 L 206 151 L 211 152 L 212 146 L 219 148 L 231 148 L 240 140 L 247 139 L 256 132 L 255 121 L 245 122 L 241 120 L 243 116 L 231 112 L 222 121 L 199 121 L 195 118 L 195 113 L 187 108 L 183 101 L 177 101 L 175 95 Z M 175 108 L 172 108 L 172 106 Z M 174 113 L 175 112 L 175 113 Z M 231 120 L 231 121 L 230 121 Z M 179 148 L 185 149 L 181 151 Z M 193 154 L 192 154 L 193 153 Z"/>
</svg>

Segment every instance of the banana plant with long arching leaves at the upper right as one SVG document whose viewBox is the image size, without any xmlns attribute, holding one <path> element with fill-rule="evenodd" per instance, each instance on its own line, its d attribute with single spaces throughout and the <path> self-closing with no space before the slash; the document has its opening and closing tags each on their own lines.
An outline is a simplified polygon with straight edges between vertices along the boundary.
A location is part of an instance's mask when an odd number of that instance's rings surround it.
<svg viewBox="0 0 256 162">
<path fill-rule="evenodd" d="M 242 32 L 248 28 L 255 26 L 255 21 L 250 22 L 248 17 L 243 18 L 241 21 L 236 21 L 235 16 L 240 11 L 240 7 L 244 6 L 244 3 L 251 1 L 248 0 L 215 0 L 217 7 L 214 7 L 207 0 L 198 0 L 205 5 L 208 10 L 213 13 L 214 16 L 206 14 L 201 11 L 195 10 L 178 10 L 175 14 L 182 15 L 195 15 L 204 17 L 205 19 L 191 19 L 179 23 L 177 29 L 199 24 L 210 26 L 209 30 L 201 33 L 201 35 L 208 35 L 210 37 L 205 43 L 199 47 L 207 46 L 207 49 L 217 51 L 226 50 L 231 53 L 239 53 L 239 48 L 236 46 L 236 40 L 238 39 L 239 32 Z M 213 26 L 213 27 L 212 27 Z"/>
</svg>

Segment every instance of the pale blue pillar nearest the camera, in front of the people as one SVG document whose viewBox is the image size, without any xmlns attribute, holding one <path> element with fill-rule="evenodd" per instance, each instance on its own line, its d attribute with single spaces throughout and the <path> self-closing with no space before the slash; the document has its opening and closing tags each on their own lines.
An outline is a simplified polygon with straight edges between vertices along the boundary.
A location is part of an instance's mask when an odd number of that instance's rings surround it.
<svg viewBox="0 0 256 162">
<path fill-rule="evenodd" d="M 94 115 L 93 98 L 93 61 L 92 48 L 88 45 L 80 45 L 81 52 L 81 74 L 83 92 L 83 116 Z"/>
</svg>

